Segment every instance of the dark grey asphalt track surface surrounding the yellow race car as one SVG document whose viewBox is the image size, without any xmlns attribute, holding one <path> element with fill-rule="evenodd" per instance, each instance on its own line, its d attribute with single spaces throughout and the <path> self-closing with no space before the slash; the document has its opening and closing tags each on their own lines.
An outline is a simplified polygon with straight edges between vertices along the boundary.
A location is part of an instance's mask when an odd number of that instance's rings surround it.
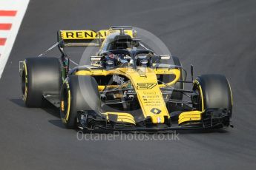
<svg viewBox="0 0 256 170">
<path fill-rule="evenodd" d="M 255 169 L 255 7 L 254 0 L 31 0 L 0 80 L 0 169 Z M 186 69 L 194 64 L 195 75 L 226 75 L 234 129 L 181 132 L 175 141 L 79 141 L 54 109 L 24 107 L 19 61 L 50 47 L 58 29 L 111 25 L 154 33 Z"/>
</svg>

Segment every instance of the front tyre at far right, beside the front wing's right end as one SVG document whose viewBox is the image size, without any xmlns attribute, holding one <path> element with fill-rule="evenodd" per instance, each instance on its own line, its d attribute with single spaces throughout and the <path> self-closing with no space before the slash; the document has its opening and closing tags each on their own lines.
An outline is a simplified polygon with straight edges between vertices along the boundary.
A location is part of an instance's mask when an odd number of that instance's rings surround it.
<svg viewBox="0 0 256 170">
<path fill-rule="evenodd" d="M 227 109 L 232 115 L 232 91 L 224 75 L 200 75 L 193 90 L 199 93 L 197 109 Z"/>
</svg>

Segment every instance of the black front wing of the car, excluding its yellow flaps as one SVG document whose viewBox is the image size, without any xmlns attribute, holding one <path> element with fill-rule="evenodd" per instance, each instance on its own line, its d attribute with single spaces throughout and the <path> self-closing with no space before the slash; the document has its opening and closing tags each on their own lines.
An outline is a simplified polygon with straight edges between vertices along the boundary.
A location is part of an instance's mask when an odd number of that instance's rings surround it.
<svg viewBox="0 0 256 170">
<path fill-rule="evenodd" d="M 140 122 L 119 121 L 113 113 L 98 114 L 96 112 L 78 112 L 78 127 L 83 130 L 107 129 L 115 131 L 168 131 L 189 129 L 219 129 L 232 126 L 229 112 L 226 109 L 207 109 L 201 114 L 200 120 L 186 121 L 186 123 L 172 123 L 171 119 L 165 123 L 151 123 L 150 118 Z M 180 114 L 182 115 L 182 114 Z M 111 118 L 109 118 L 111 117 Z M 166 118 L 167 119 L 167 118 Z"/>
</svg>

